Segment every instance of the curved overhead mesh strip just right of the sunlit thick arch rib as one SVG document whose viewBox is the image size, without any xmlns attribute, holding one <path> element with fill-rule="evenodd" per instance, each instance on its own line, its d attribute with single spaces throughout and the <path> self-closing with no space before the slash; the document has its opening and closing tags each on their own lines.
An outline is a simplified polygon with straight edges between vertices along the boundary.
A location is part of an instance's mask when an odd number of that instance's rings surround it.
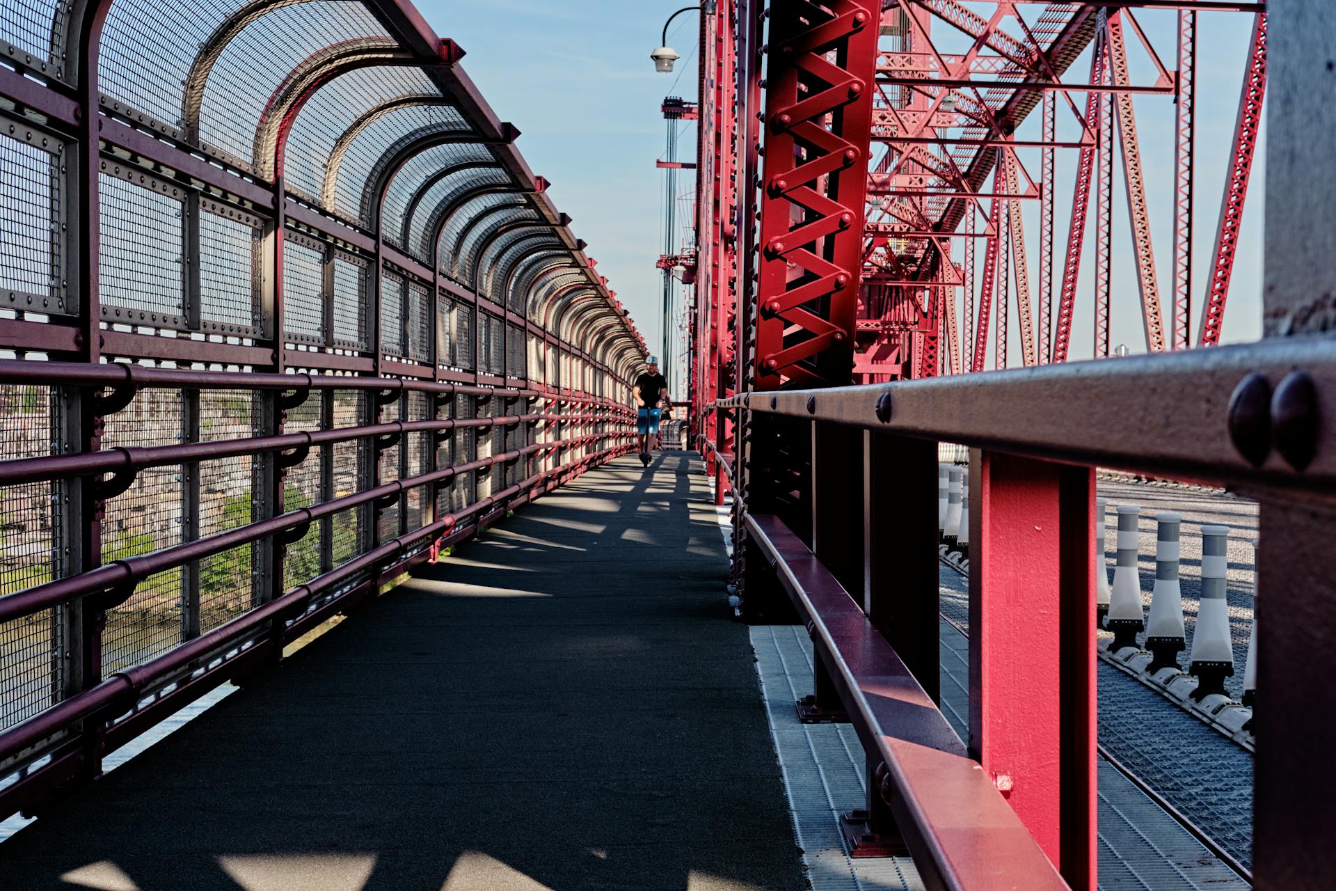
<svg viewBox="0 0 1336 891">
<path fill-rule="evenodd" d="M 330 152 L 347 128 L 387 100 L 421 95 L 441 94 L 421 69 L 398 65 L 355 68 L 321 84 L 302 106 L 287 136 L 283 170 L 287 186 L 319 199 Z"/>
</svg>

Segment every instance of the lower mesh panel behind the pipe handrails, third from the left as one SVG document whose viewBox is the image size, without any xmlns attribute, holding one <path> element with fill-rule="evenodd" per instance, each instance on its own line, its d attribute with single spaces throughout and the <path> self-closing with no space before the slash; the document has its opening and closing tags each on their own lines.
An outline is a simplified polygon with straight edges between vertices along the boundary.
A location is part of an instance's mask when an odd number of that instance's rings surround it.
<svg viewBox="0 0 1336 891">
<path fill-rule="evenodd" d="M 261 397 L 250 390 L 202 390 L 199 441 L 226 442 L 259 435 Z M 259 489 L 255 458 L 238 456 L 199 464 L 199 536 L 254 522 L 253 493 Z M 236 618 L 258 601 L 255 553 L 244 544 L 199 561 L 199 629 Z"/>
</svg>

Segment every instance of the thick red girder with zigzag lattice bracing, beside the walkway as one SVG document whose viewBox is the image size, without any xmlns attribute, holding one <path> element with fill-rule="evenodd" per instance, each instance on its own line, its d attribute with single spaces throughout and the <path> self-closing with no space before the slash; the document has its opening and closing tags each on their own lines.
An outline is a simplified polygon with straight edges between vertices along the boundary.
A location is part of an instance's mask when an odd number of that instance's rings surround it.
<svg viewBox="0 0 1336 891">
<path fill-rule="evenodd" d="M 758 389 L 850 379 L 876 23 L 872 0 L 771 5 Z"/>
</svg>

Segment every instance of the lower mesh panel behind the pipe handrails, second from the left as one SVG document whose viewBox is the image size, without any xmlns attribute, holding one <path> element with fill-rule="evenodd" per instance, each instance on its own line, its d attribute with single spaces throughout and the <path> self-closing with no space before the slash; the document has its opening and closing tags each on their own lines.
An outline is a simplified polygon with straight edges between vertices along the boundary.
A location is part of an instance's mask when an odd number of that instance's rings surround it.
<svg viewBox="0 0 1336 891">
<path fill-rule="evenodd" d="M 184 439 L 180 390 L 140 390 L 126 409 L 106 419 L 103 448 L 175 445 Z M 123 494 L 107 501 L 102 560 L 124 560 L 183 540 L 183 468 L 146 468 Z M 138 665 L 182 641 L 183 573 L 167 569 L 139 582 L 135 593 L 107 612 L 102 635 L 104 672 Z"/>
</svg>

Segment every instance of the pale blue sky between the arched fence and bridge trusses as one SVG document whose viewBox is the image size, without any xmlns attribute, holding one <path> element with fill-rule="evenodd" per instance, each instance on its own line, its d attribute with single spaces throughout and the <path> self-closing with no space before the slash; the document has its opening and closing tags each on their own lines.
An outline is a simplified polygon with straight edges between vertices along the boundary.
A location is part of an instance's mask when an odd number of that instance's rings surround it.
<svg viewBox="0 0 1336 891">
<path fill-rule="evenodd" d="M 525 158 L 534 172 L 552 180 L 553 200 L 574 218 L 572 230 L 589 243 L 588 252 L 599 260 L 599 270 L 608 277 L 609 286 L 631 309 L 651 343 L 659 342 L 660 329 L 661 286 L 655 259 L 663 243 L 663 172 L 655 168 L 655 159 L 664 151 L 664 122 L 659 104 L 669 92 L 688 99 L 695 96 L 696 16 L 679 16 L 669 36 L 669 44 L 684 56 L 679 63 L 679 71 L 684 72 L 680 79 L 677 72 L 671 76 L 655 73 L 648 56 L 659 45 L 664 20 L 681 5 L 685 3 L 679 0 L 420 3 L 437 33 L 453 37 L 465 48 L 464 67 L 497 114 L 520 128 L 522 136 L 518 146 Z M 1023 7 L 1027 20 L 1033 20 L 1039 8 Z M 1137 19 L 1165 65 L 1174 68 L 1174 13 L 1142 11 Z M 1200 314 L 1202 285 L 1210 264 L 1250 24 L 1250 15 L 1198 16 L 1194 318 Z M 938 27 L 934 24 L 934 33 Z M 1150 64 L 1134 47 L 1130 31 L 1128 40 L 1133 80 L 1149 81 Z M 1071 67 L 1069 79 L 1083 77 L 1088 71 L 1089 56 L 1085 55 Z M 1082 107 L 1082 95 L 1074 95 L 1074 100 Z M 1173 106 L 1168 98 L 1138 96 L 1136 112 L 1156 262 L 1162 299 L 1168 299 L 1172 273 Z M 1029 128 L 1038 128 L 1038 114 L 1031 115 L 1018 135 L 1027 138 Z M 1059 136 L 1065 124 L 1074 126 L 1059 115 Z M 693 134 L 684 131 L 681 139 L 681 151 L 689 159 Z M 1075 150 L 1057 152 L 1058 256 L 1066 243 L 1075 158 Z M 1037 152 L 1033 158 L 1022 154 L 1022 162 L 1038 178 Z M 1248 192 L 1241 247 L 1225 317 L 1226 341 L 1248 341 L 1260 334 L 1264 164 L 1265 152 L 1261 152 Z M 1026 202 L 1030 278 L 1035 283 L 1037 210 L 1037 202 Z M 1071 358 L 1090 355 L 1093 240 L 1092 220 Z M 1113 343 L 1128 343 L 1133 351 L 1140 351 L 1144 335 L 1121 172 L 1114 191 L 1113 266 Z M 1193 338 L 1196 327 L 1194 322 Z M 1011 362 L 1019 365 L 1015 329 L 1010 341 Z"/>
</svg>

